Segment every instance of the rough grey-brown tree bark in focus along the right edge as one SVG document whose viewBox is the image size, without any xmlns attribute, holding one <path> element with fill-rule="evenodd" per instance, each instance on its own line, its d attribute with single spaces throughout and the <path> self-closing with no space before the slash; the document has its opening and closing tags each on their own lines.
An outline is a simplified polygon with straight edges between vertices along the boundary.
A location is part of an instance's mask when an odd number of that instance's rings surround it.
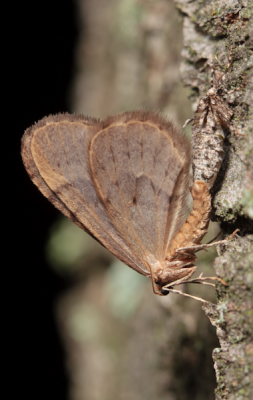
<svg viewBox="0 0 253 400">
<path fill-rule="evenodd" d="M 196 102 L 210 87 L 205 62 L 215 55 L 225 69 L 232 46 L 233 64 L 225 87 L 235 130 L 225 141 L 225 158 L 212 190 L 213 219 L 224 232 L 240 229 L 215 260 L 228 286 L 218 290 L 218 305 L 203 308 L 216 327 L 221 348 L 213 359 L 216 399 L 252 399 L 253 394 L 253 85 L 252 1 L 176 0 L 184 15 L 184 82 Z M 220 66 L 218 66 L 220 69 Z M 209 75 L 208 75 L 209 72 Z M 244 87 L 241 86 L 246 76 Z"/>
</svg>

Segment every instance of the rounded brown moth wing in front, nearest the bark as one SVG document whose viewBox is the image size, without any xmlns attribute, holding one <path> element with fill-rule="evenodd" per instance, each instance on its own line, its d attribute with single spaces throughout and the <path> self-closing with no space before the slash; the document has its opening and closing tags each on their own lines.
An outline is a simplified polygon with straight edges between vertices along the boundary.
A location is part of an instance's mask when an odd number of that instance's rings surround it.
<svg viewBox="0 0 253 400">
<path fill-rule="evenodd" d="M 182 224 L 189 145 L 156 113 L 126 113 L 109 122 L 91 141 L 94 186 L 124 242 L 152 267 L 164 262 Z"/>
</svg>

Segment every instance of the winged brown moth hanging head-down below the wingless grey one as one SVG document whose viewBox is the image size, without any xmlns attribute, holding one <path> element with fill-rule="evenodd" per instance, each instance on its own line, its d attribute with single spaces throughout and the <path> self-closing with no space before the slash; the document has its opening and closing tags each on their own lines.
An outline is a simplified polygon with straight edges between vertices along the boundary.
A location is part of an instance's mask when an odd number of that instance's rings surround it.
<svg viewBox="0 0 253 400">
<path fill-rule="evenodd" d="M 151 277 L 155 293 L 207 279 L 189 278 L 210 219 L 209 190 L 194 182 L 193 208 L 183 223 L 190 145 L 159 113 L 126 112 L 103 121 L 45 117 L 26 130 L 22 158 L 44 196 L 125 264 Z"/>
</svg>

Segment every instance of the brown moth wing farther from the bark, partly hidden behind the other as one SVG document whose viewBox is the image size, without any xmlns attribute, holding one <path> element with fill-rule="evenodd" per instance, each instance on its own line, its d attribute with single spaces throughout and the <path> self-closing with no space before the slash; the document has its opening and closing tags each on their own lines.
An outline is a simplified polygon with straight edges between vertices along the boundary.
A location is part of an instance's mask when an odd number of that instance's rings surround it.
<svg viewBox="0 0 253 400">
<path fill-rule="evenodd" d="M 93 119 L 68 114 L 43 118 L 22 138 L 22 158 L 32 181 L 63 214 L 143 275 L 149 267 L 115 228 L 94 187 L 90 144 L 101 129 Z"/>
</svg>

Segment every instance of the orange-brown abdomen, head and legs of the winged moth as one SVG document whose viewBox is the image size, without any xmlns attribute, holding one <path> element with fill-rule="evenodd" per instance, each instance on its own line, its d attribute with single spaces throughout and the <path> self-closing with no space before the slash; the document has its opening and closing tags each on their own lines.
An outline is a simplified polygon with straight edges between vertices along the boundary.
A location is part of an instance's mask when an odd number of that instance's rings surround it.
<svg viewBox="0 0 253 400">
<path fill-rule="evenodd" d="M 218 277 L 203 277 L 200 274 L 197 278 L 192 278 L 196 267 L 193 265 L 194 257 L 197 250 L 212 247 L 218 244 L 227 243 L 238 232 L 235 230 L 227 239 L 214 243 L 200 244 L 200 241 L 207 232 L 210 219 L 211 196 L 205 182 L 195 181 L 191 189 L 193 197 L 193 209 L 183 224 L 180 231 L 173 239 L 166 257 L 167 268 L 156 274 L 154 286 L 157 284 L 159 294 L 167 294 L 168 292 L 183 294 L 183 292 L 175 291 L 173 288 L 182 283 L 199 283 L 204 285 L 215 286 L 210 281 L 218 281 L 223 285 L 226 283 Z M 213 240 L 215 240 L 214 238 Z M 153 287 L 154 287 L 153 286 Z M 183 294 L 186 295 L 186 294 Z M 187 297 L 204 301 L 195 296 L 187 295 Z"/>
</svg>

